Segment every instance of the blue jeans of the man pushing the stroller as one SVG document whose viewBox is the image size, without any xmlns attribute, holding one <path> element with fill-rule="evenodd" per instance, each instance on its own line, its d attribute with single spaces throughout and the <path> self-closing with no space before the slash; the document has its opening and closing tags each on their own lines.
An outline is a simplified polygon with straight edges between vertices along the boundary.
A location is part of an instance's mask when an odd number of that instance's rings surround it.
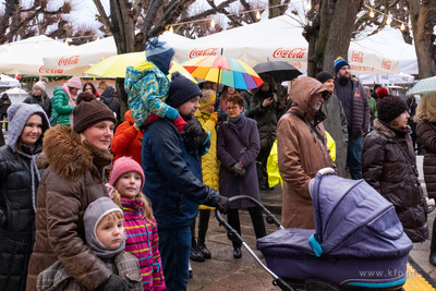
<svg viewBox="0 0 436 291">
<path fill-rule="evenodd" d="M 191 252 L 191 229 L 190 227 L 177 230 L 158 229 L 158 233 L 167 290 L 184 291 L 190 276 L 187 268 Z"/>
</svg>

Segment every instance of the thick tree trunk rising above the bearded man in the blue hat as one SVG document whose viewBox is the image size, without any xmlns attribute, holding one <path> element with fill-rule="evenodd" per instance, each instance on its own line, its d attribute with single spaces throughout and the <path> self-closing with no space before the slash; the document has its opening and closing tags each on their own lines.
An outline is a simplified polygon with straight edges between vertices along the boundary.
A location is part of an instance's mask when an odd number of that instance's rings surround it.
<svg viewBox="0 0 436 291">
<path fill-rule="evenodd" d="M 348 59 L 351 35 L 362 0 L 337 0 L 324 53 L 323 70 L 335 74 L 334 61 Z M 324 24 L 325 25 L 325 24 Z M 323 26 L 323 24 L 322 24 Z M 335 74 L 336 75 L 336 74 Z"/>
</svg>

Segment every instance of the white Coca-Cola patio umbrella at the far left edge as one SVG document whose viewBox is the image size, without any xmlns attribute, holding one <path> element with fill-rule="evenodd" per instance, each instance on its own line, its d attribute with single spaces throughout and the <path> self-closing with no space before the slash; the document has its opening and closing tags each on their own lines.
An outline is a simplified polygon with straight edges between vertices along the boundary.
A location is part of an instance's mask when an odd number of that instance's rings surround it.
<svg viewBox="0 0 436 291">
<path fill-rule="evenodd" d="M 60 75 L 61 68 L 47 70 L 43 58 L 59 51 L 68 50 L 68 46 L 45 35 L 0 46 L 0 73 L 28 75 Z"/>
</svg>

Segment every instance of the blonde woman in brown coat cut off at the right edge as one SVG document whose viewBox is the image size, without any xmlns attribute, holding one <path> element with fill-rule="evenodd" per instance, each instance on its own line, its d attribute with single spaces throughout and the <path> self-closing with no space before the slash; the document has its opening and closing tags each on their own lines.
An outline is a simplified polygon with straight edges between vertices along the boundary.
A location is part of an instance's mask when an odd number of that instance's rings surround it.
<svg viewBox="0 0 436 291">
<path fill-rule="evenodd" d="M 436 199 L 436 92 L 421 98 L 414 117 L 419 145 L 425 150 L 424 181 L 428 198 Z M 435 221 L 436 222 L 436 221 Z M 429 263 L 436 266 L 436 223 L 433 222 Z"/>
</svg>

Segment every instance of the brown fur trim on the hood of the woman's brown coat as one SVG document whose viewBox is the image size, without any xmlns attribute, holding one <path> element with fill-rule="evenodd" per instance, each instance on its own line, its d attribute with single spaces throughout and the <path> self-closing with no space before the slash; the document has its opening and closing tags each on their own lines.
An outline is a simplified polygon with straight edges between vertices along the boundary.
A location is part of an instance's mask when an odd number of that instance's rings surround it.
<svg viewBox="0 0 436 291">
<path fill-rule="evenodd" d="M 94 166 L 104 168 L 112 160 L 109 150 L 87 142 L 69 125 L 57 125 L 43 140 L 45 159 L 60 177 L 76 180 Z"/>
</svg>

